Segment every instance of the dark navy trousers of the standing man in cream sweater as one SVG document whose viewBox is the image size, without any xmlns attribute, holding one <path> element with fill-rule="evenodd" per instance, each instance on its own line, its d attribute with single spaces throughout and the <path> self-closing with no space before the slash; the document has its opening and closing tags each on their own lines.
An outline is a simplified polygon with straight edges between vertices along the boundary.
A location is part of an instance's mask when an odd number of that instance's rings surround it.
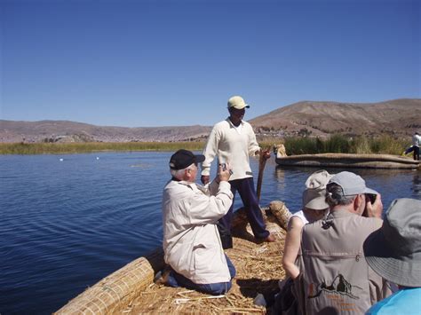
<svg viewBox="0 0 421 315">
<path fill-rule="evenodd" d="M 250 222 L 251 231 L 258 239 L 265 239 L 269 232 L 266 230 L 265 220 L 262 215 L 262 211 L 258 205 L 258 196 L 254 188 L 253 177 L 247 177 L 242 179 L 230 180 L 231 192 L 234 194 L 233 205 L 228 210 L 224 217 L 221 217 L 218 221 L 219 233 L 224 248 L 232 248 L 231 240 L 231 222 L 234 216 L 234 200 L 235 193 L 238 191 L 242 198 L 242 204 Z"/>
</svg>

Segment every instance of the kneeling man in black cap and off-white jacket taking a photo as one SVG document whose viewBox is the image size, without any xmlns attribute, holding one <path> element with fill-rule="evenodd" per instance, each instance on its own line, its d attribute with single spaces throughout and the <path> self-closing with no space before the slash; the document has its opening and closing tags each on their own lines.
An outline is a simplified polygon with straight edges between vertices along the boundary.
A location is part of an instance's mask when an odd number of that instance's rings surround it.
<svg viewBox="0 0 421 315">
<path fill-rule="evenodd" d="M 164 283 L 211 295 L 231 288 L 234 265 L 225 255 L 217 228 L 233 202 L 229 166 L 219 166 L 210 185 L 196 185 L 203 155 L 179 150 L 170 159 L 171 180 L 163 189 L 163 251 L 171 272 Z"/>
</svg>

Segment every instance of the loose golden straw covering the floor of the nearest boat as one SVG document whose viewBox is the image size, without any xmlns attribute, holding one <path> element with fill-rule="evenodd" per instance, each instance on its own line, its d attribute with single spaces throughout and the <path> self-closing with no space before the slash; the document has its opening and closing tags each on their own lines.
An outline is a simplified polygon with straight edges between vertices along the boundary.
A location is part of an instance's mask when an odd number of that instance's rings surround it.
<svg viewBox="0 0 421 315">
<path fill-rule="evenodd" d="M 282 253 L 286 225 L 290 212 L 281 201 L 271 203 L 263 211 L 266 227 L 274 234 L 273 243 L 258 242 L 251 234 L 242 210 L 236 212 L 233 223 L 234 248 L 226 250 L 237 275 L 233 287 L 226 295 L 204 295 L 184 287 L 173 288 L 151 283 L 122 311 L 123 314 L 140 313 L 266 313 L 269 307 L 254 303 L 258 294 L 269 301 L 278 289 L 278 280 L 285 277 Z"/>
</svg>

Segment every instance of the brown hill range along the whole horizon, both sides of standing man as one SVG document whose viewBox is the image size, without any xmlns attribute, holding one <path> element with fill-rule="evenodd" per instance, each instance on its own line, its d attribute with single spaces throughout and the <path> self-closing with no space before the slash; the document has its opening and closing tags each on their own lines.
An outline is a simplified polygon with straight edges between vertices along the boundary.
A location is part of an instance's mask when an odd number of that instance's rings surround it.
<svg viewBox="0 0 421 315">
<path fill-rule="evenodd" d="M 351 104 L 302 101 L 249 121 L 258 136 L 318 136 L 333 133 L 409 136 L 421 131 L 421 98 Z M 0 120 L 0 142 L 183 141 L 206 138 L 211 126 L 107 127 L 68 121 Z"/>
</svg>

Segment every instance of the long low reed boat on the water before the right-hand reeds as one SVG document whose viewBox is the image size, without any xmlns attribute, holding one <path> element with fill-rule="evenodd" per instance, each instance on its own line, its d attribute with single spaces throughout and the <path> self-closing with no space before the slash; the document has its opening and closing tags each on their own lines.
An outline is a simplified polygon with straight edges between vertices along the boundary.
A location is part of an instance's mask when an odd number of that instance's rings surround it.
<svg viewBox="0 0 421 315">
<path fill-rule="evenodd" d="M 301 154 L 282 156 L 276 163 L 282 166 L 359 169 L 419 169 L 419 161 L 392 154 Z"/>
</svg>

